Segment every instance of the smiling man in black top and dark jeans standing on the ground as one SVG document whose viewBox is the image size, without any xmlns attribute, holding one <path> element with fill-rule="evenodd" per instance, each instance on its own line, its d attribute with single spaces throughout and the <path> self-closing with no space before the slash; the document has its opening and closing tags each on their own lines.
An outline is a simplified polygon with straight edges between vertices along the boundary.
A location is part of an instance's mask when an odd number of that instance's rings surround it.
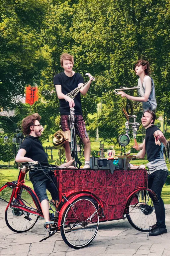
<svg viewBox="0 0 170 256">
<path fill-rule="evenodd" d="M 163 156 L 163 147 L 167 145 L 163 133 L 154 125 L 156 115 L 153 111 L 144 112 L 141 121 L 146 129 L 146 136 L 139 147 L 134 148 L 140 150 L 137 154 L 138 158 L 144 158 L 147 153 L 148 167 L 148 188 L 154 191 L 158 196 L 158 201 L 153 200 L 156 214 L 156 224 L 152 227 L 149 235 L 157 236 L 167 232 L 165 226 L 165 207 L 161 198 L 162 187 L 168 176 L 168 168 Z"/>
</svg>

